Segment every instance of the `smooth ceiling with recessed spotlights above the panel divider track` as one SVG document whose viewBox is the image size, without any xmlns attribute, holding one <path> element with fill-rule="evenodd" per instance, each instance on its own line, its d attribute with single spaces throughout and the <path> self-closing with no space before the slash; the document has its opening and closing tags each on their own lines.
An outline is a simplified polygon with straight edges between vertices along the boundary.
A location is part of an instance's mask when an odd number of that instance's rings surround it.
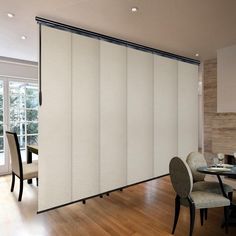
<svg viewBox="0 0 236 236">
<path fill-rule="evenodd" d="M 236 0 L 0 0 L 0 6 L 5 57 L 37 61 L 35 16 L 200 60 L 236 44 Z M 139 11 L 131 13 L 132 6 Z"/>
</svg>

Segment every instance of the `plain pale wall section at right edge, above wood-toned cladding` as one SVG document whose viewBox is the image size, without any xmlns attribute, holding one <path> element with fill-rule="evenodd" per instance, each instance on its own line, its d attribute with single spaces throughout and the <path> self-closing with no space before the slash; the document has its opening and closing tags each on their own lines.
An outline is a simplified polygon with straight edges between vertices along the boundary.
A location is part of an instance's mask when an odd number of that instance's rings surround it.
<svg viewBox="0 0 236 236">
<path fill-rule="evenodd" d="M 217 112 L 236 112 L 236 45 L 217 51 Z"/>
</svg>

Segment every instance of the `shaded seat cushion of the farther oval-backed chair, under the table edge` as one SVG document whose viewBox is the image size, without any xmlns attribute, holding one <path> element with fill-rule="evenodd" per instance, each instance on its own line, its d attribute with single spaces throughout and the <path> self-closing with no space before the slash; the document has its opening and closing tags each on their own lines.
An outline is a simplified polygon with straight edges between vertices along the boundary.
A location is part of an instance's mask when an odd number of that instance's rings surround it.
<svg viewBox="0 0 236 236">
<path fill-rule="evenodd" d="M 233 188 L 228 184 L 223 184 L 226 193 L 233 192 Z M 222 194 L 220 184 L 213 181 L 199 181 L 193 183 L 192 191 L 207 191 L 210 193 Z"/>
</svg>

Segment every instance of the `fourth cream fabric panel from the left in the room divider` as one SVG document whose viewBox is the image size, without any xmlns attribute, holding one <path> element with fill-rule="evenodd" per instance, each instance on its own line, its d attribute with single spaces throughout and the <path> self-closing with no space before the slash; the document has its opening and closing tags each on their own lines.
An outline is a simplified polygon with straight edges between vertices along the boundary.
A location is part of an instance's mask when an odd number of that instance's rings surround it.
<svg viewBox="0 0 236 236">
<path fill-rule="evenodd" d="M 154 176 L 154 56 L 128 48 L 127 168 L 128 184 Z"/>
</svg>

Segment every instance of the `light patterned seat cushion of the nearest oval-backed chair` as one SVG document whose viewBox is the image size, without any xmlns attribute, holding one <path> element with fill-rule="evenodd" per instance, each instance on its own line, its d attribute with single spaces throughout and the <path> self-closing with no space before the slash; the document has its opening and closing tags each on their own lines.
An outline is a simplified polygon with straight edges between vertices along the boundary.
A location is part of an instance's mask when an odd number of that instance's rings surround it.
<svg viewBox="0 0 236 236">
<path fill-rule="evenodd" d="M 214 208 L 229 206 L 230 200 L 222 196 L 221 194 L 195 191 L 190 194 L 196 209 L 202 208 Z M 188 201 L 186 199 L 181 199 L 181 204 L 188 206 Z"/>
</svg>

